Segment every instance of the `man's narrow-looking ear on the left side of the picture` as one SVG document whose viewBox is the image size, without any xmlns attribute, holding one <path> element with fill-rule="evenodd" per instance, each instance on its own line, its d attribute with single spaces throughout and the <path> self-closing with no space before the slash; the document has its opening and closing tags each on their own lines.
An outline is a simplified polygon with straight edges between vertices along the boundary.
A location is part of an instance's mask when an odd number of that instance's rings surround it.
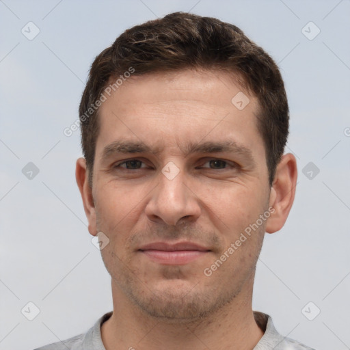
<svg viewBox="0 0 350 350">
<path fill-rule="evenodd" d="M 92 196 L 92 187 L 90 187 L 89 184 L 89 171 L 87 170 L 84 158 L 77 159 L 75 178 L 77 180 L 81 198 L 83 200 L 85 215 L 87 217 L 87 221 L 89 222 L 89 232 L 92 234 L 92 236 L 96 236 L 96 210 L 94 198 Z"/>
</svg>

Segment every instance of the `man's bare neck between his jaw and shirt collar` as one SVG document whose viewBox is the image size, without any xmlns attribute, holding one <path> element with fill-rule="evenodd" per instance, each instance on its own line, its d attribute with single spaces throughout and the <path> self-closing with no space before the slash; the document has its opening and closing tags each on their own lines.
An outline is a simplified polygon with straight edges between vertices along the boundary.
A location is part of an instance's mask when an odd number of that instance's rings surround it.
<svg viewBox="0 0 350 350">
<path fill-rule="evenodd" d="M 156 319 L 140 310 L 112 282 L 113 314 L 101 327 L 106 350 L 252 350 L 264 332 L 252 310 L 254 278 L 239 295 L 205 319 Z"/>
</svg>

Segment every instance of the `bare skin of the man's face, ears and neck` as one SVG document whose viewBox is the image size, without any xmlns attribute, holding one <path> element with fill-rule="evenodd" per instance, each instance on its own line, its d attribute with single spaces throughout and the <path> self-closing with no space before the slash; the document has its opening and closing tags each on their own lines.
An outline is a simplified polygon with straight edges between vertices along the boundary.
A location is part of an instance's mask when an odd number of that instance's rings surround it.
<svg viewBox="0 0 350 350">
<path fill-rule="evenodd" d="M 280 230 L 291 210 L 297 163 L 284 154 L 269 186 L 258 100 L 245 92 L 250 103 L 239 110 L 231 100 L 240 91 L 218 71 L 152 73 L 131 77 L 100 107 L 92 187 L 83 158 L 76 178 L 90 234 L 109 238 L 101 250 L 113 295 L 113 315 L 101 327 L 107 350 L 248 350 L 262 337 L 252 311 L 256 261 L 265 232 Z M 121 138 L 160 153 L 103 157 Z M 237 152 L 183 152 L 187 142 L 226 139 L 249 149 L 254 163 Z M 172 180 L 161 172 L 170 161 L 179 170 Z M 205 275 L 269 207 L 274 213 L 258 230 Z M 165 265 L 139 251 L 184 240 L 209 252 Z"/>
</svg>

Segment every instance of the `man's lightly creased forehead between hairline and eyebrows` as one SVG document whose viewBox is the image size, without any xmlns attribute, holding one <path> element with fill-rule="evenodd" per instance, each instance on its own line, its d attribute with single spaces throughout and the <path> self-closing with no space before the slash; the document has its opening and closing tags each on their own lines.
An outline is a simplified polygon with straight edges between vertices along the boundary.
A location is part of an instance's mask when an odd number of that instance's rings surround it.
<svg viewBox="0 0 350 350">
<path fill-rule="evenodd" d="M 225 72 L 180 70 L 132 76 L 101 105 L 96 148 L 120 136 L 161 148 L 227 136 L 249 148 L 262 143 L 257 113 L 257 98 Z"/>
</svg>

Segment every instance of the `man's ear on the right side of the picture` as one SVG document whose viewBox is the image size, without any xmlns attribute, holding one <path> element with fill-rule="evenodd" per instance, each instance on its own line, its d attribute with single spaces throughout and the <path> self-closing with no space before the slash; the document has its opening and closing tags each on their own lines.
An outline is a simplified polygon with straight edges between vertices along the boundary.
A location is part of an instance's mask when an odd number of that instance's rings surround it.
<svg viewBox="0 0 350 350">
<path fill-rule="evenodd" d="M 291 211 L 297 186 L 297 160 L 291 153 L 284 154 L 278 163 L 270 191 L 269 206 L 275 209 L 267 219 L 266 232 L 280 230 Z"/>
</svg>

